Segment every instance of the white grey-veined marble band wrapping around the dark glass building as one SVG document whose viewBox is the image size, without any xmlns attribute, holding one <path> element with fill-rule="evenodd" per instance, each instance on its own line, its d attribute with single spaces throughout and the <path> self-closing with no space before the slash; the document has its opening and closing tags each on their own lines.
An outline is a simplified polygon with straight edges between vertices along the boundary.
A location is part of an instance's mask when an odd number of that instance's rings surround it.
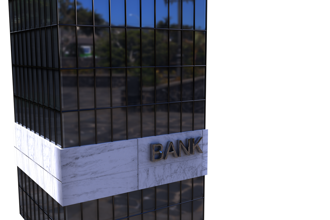
<svg viewBox="0 0 330 220">
<path fill-rule="evenodd" d="M 62 206 L 208 175 L 209 129 L 59 148 L 13 122 L 16 166 Z M 150 144 L 203 139 L 195 154 L 150 161 Z"/>
</svg>

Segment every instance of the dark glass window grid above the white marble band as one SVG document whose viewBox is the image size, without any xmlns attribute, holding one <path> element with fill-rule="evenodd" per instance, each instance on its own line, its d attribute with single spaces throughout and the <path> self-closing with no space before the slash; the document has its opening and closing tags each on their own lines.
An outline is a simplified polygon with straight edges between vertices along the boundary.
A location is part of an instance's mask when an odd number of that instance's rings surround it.
<svg viewBox="0 0 330 220">
<path fill-rule="evenodd" d="M 63 18 L 60 5 L 65 2 L 72 3 L 72 11 Z M 205 129 L 207 1 L 177 1 L 178 6 L 149 1 L 151 8 L 146 0 L 137 2 L 139 10 L 134 11 L 133 1 L 123 1 L 123 6 L 109 1 L 107 21 L 95 13 L 96 0 L 89 5 L 9 1 L 16 122 L 39 135 L 43 130 L 44 138 L 61 147 Z M 175 7 L 177 23 L 171 21 Z M 123 9 L 123 18 L 116 17 L 117 9 Z M 202 25 L 200 9 L 205 11 Z M 147 24 L 146 12 L 152 10 L 153 24 Z M 163 20 L 162 13 L 167 15 Z M 138 22 L 132 21 L 134 16 Z M 107 51 L 100 42 L 109 44 Z M 35 70 L 41 78 L 26 82 Z M 44 72 L 52 76 L 43 77 Z M 69 72 L 74 83 L 69 87 L 76 91 L 68 96 L 64 79 Z M 104 90 L 108 99 L 99 100 Z M 68 110 L 65 102 L 70 99 L 77 105 Z"/>
</svg>

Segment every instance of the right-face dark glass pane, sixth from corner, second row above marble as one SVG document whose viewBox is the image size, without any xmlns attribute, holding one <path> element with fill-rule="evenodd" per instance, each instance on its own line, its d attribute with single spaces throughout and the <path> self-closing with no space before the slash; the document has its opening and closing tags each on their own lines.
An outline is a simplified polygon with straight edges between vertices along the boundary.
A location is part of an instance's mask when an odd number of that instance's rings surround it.
<svg viewBox="0 0 330 220">
<path fill-rule="evenodd" d="M 154 68 L 142 68 L 142 104 L 155 103 Z"/>
</svg>

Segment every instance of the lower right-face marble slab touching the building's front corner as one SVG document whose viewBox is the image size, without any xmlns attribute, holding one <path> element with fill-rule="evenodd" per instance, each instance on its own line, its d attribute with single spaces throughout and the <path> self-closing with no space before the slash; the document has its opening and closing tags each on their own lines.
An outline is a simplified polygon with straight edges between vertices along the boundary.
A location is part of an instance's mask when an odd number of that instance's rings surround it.
<svg viewBox="0 0 330 220">
<path fill-rule="evenodd" d="M 62 183 L 62 206 L 135 191 L 137 174 L 134 170 Z"/>
</svg>

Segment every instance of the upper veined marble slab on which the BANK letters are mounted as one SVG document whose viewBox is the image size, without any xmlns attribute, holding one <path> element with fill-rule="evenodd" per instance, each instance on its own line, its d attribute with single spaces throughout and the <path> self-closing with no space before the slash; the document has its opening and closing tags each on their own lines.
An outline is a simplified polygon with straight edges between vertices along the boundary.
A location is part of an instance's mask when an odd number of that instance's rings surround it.
<svg viewBox="0 0 330 220">
<path fill-rule="evenodd" d="M 202 137 L 202 130 L 196 130 L 196 131 L 187 131 L 182 133 L 175 133 L 175 134 L 168 134 L 168 135 L 158 135 L 158 136 L 152 136 L 152 137 L 146 137 L 146 138 L 139 138 L 138 139 L 138 154 L 139 154 L 139 163 L 138 168 L 146 168 L 146 167 L 154 167 L 159 166 L 162 164 L 168 164 L 168 163 L 174 163 L 178 161 L 184 161 L 184 160 L 192 160 L 195 158 L 202 157 L 202 154 L 199 153 L 197 150 L 195 150 L 195 154 L 192 155 L 185 155 L 184 153 L 181 153 L 181 157 L 173 157 L 172 155 L 168 155 L 166 160 L 160 160 L 151 162 L 150 160 L 150 144 L 153 143 L 160 143 L 163 145 L 163 150 L 165 151 L 167 142 L 172 141 L 174 148 L 178 152 L 178 144 L 177 140 L 181 140 L 184 145 L 186 145 L 186 139 L 194 138 L 195 140 L 198 137 Z"/>
</svg>

